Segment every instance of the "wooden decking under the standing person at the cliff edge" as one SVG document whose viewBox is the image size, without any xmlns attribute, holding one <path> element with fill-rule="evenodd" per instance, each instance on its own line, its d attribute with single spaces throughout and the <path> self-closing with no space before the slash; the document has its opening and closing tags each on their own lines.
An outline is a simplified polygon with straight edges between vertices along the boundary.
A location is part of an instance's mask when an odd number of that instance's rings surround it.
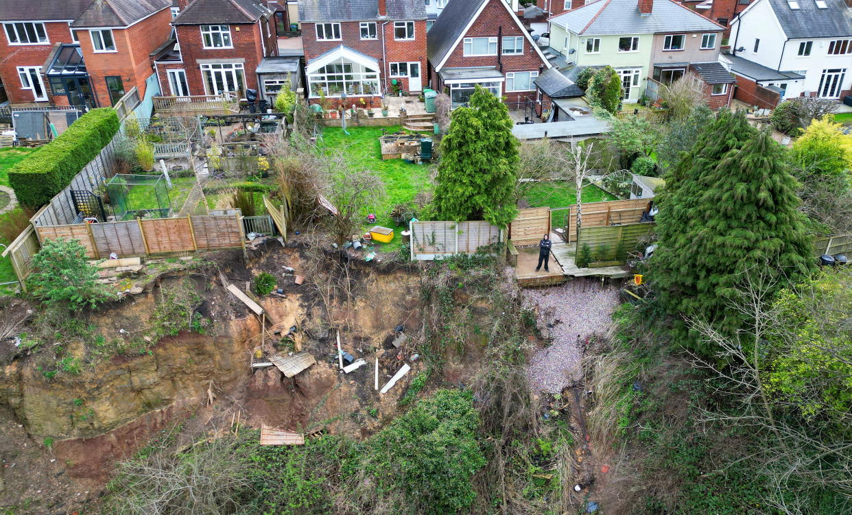
<svg viewBox="0 0 852 515">
<path fill-rule="evenodd" d="M 569 278 L 626 278 L 630 274 L 624 266 L 579 268 L 574 265 L 574 245 L 554 240 L 550 249 L 550 272 L 535 271 L 538 265 L 538 247 L 518 247 L 518 265 L 515 278 L 522 287 L 551 286 Z"/>
</svg>

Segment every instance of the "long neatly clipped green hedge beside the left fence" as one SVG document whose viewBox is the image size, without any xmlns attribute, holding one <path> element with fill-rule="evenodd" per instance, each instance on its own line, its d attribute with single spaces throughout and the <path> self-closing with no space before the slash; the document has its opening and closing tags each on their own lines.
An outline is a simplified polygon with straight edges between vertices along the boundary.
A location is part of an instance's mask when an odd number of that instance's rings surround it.
<svg viewBox="0 0 852 515">
<path fill-rule="evenodd" d="M 38 209 L 49 203 L 118 133 L 112 107 L 93 109 L 55 140 L 9 169 L 9 184 L 20 203 Z"/>
</svg>

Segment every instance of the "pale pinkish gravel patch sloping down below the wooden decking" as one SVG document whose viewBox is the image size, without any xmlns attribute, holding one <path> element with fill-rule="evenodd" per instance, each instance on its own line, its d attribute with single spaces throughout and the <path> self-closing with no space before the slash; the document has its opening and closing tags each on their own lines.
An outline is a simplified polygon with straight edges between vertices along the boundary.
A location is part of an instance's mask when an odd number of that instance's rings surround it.
<svg viewBox="0 0 852 515">
<path fill-rule="evenodd" d="M 524 304 L 538 304 L 538 327 L 553 343 L 533 354 L 527 377 L 534 392 L 559 393 L 582 376 L 578 344 L 604 333 L 619 303 L 619 290 L 596 281 L 574 280 L 551 288 L 524 290 Z"/>
</svg>

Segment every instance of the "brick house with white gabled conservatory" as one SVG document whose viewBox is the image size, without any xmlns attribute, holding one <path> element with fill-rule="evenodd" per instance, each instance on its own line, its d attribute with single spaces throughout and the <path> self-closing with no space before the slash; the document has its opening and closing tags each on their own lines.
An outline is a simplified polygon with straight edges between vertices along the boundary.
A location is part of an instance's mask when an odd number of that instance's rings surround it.
<svg viewBox="0 0 852 515">
<path fill-rule="evenodd" d="M 378 107 L 384 94 L 423 90 L 423 0 L 303 0 L 299 19 L 312 103 L 321 92 L 333 106 Z"/>
</svg>

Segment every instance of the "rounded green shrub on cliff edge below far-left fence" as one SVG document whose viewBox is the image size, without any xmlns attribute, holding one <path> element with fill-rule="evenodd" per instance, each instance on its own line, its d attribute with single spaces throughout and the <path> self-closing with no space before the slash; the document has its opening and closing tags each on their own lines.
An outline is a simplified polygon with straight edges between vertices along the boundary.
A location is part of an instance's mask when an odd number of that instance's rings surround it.
<svg viewBox="0 0 852 515">
<path fill-rule="evenodd" d="M 112 297 L 97 278 L 98 269 L 89 265 L 83 245 L 60 237 L 44 240 L 42 249 L 32 257 L 32 274 L 27 282 L 32 294 L 48 305 L 79 310 L 94 308 Z"/>
</svg>

